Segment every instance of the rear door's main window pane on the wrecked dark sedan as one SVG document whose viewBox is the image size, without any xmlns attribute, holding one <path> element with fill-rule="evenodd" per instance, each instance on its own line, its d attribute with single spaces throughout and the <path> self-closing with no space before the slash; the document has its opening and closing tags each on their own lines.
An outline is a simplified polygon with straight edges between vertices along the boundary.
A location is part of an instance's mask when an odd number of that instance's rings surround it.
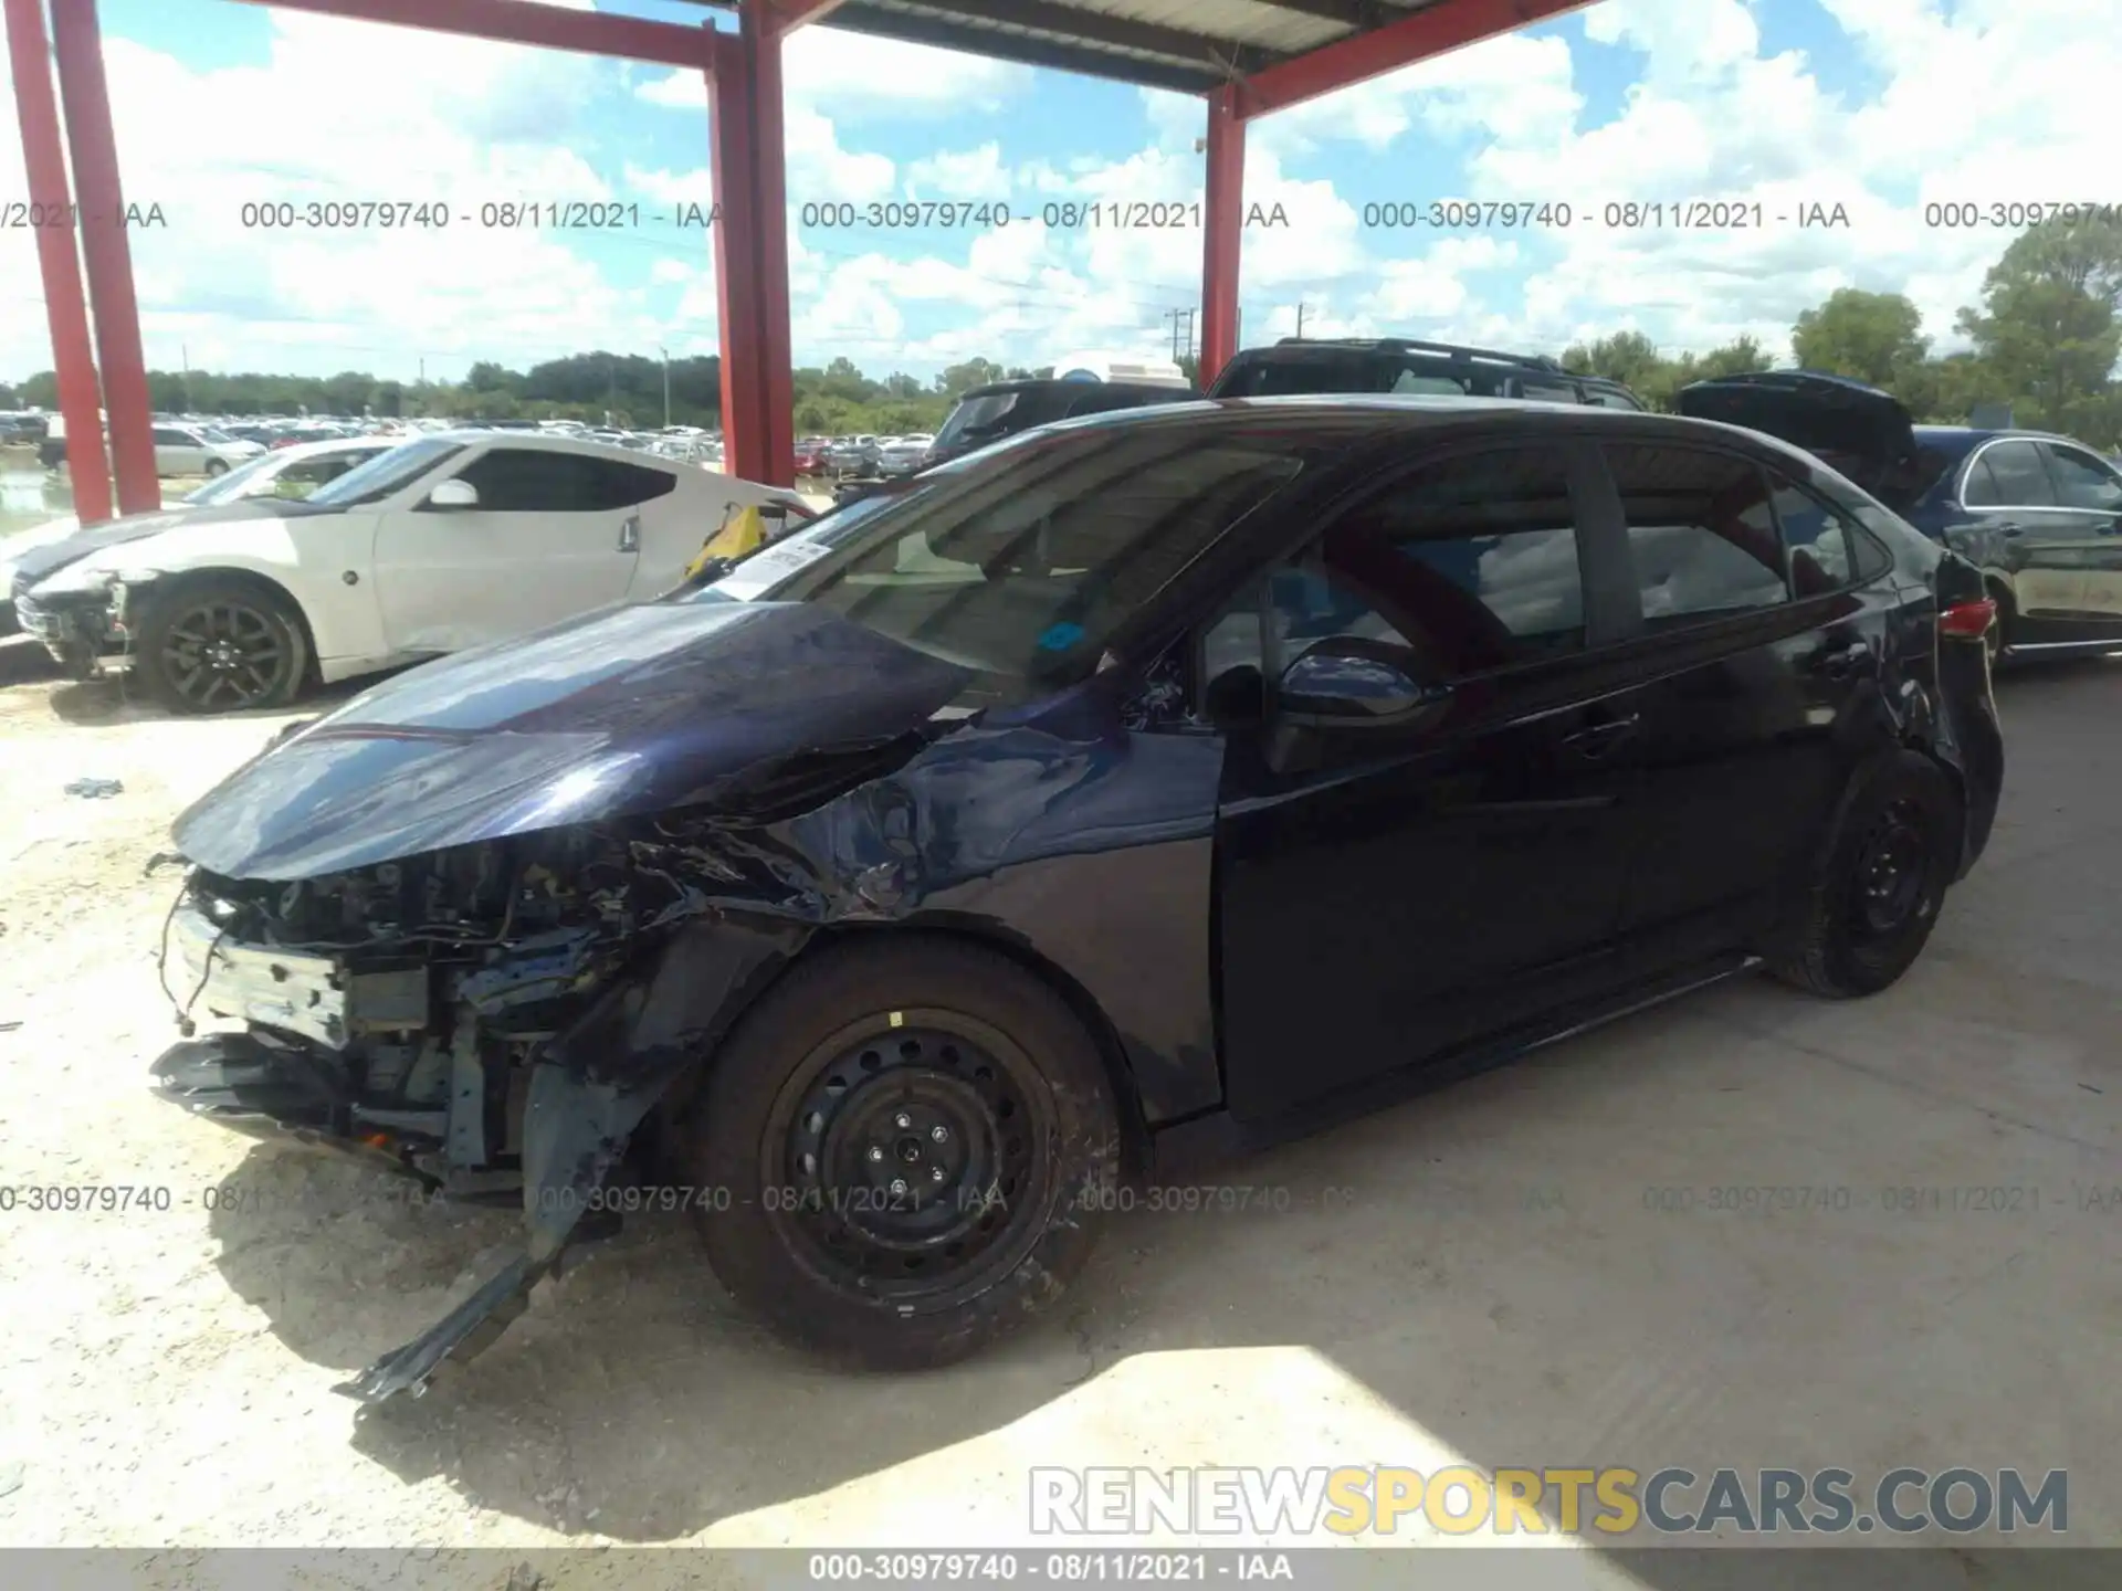
<svg viewBox="0 0 2122 1591">
<path fill-rule="evenodd" d="M 1776 513 L 1757 465 L 1649 443 L 1606 448 L 1606 465 L 1651 632 L 1789 598 Z"/>
</svg>

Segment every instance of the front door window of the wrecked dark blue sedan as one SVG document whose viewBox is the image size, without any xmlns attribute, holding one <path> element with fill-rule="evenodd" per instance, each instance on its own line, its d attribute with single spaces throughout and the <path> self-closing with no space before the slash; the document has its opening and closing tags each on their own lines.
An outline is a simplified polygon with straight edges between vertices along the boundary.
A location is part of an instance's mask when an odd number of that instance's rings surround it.
<svg viewBox="0 0 2122 1591">
<path fill-rule="evenodd" d="M 1583 573 L 1568 458 L 1511 448 L 1413 471 L 1271 571 L 1210 626 L 1203 679 L 1288 668 L 1322 641 L 1401 653 L 1411 679 L 1451 683 L 1585 645 Z"/>
</svg>

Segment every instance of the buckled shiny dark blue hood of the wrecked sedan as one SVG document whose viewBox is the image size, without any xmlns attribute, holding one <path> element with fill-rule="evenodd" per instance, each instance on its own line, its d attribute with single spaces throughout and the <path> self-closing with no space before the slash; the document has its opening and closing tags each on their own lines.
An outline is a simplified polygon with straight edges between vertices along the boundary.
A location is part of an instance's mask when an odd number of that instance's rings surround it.
<svg viewBox="0 0 2122 1591">
<path fill-rule="evenodd" d="M 229 878 L 314 878 L 711 806 L 806 753 L 893 742 L 968 679 L 802 602 L 605 609 L 356 696 L 238 768 L 172 834 Z"/>
</svg>

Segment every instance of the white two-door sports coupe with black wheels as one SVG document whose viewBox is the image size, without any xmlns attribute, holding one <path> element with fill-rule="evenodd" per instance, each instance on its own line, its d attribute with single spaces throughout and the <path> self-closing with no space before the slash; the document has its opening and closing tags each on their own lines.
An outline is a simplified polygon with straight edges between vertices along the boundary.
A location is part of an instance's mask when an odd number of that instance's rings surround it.
<svg viewBox="0 0 2122 1591">
<path fill-rule="evenodd" d="M 15 613 L 76 672 L 129 666 L 172 711 L 278 706 L 310 681 L 660 596 L 741 507 L 813 515 L 796 492 L 628 448 L 446 431 L 306 501 L 185 511 L 17 575 Z"/>
</svg>

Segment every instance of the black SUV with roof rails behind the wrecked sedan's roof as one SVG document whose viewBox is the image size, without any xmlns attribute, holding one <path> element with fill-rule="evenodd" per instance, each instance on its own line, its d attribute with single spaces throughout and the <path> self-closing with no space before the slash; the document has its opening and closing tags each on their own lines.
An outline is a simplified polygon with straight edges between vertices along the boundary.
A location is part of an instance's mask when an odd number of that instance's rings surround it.
<svg viewBox="0 0 2122 1591">
<path fill-rule="evenodd" d="M 1407 337 L 1284 337 L 1273 348 L 1239 350 L 1207 388 L 1212 399 L 1309 392 L 1528 399 L 1638 412 L 1649 407 L 1621 382 L 1577 375 L 1545 354 L 1504 354 Z"/>
</svg>

